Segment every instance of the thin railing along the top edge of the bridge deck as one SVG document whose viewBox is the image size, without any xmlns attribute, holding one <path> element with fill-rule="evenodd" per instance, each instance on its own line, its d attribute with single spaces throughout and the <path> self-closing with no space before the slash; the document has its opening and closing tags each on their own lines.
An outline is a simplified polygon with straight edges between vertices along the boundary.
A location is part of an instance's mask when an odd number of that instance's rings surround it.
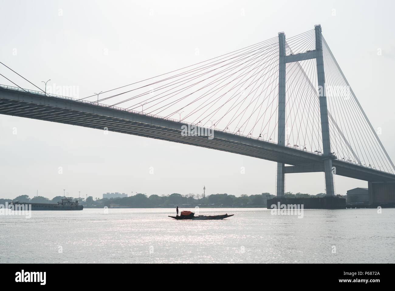
<svg viewBox="0 0 395 291">
<path fill-rule="evenodd" d="M 83 99 L 77 99 L 77 98 L 72 98 L 72 97 L 68 97 L 68 96 L 56 95 L 56 94 L 52 94 L 52 93 L 44 93 L 44 92 L 40 92 L 40 91 L 35 91 L 35 90 L 30 90 L 30 89 L 22 89 L 22 88 L 19 88 L 19 87 L 9 86 L 9 85 L 2 85 L 2 84 L 0 84 L 0 88 L 5 88 L 5 89 L 9 89 L 9 90 L 20 91 L 20 92 L 27 92 L 27 93 L 32 93 L 32 94 L 38 94 L 38 95 L 46 96 L 46 97 L 55 97 L 55 98 L 67 99 L 67 100 L 76 101 L 76 102 L 81 102 L 81 103 L 85 103 L 85 104 L 96 105 L 96 106 L 100 106 L 100 107 L 104 107 L 104 108 L 112 108 L 112 109 L 115 109 L 115 110 L 126 111 L 126 112 L 135 113 L 135 114 L 141 114 L 141 115 L 145 115 L 145 116 L 150 116 L 150 117 L 154 117 L 154 118 L 165 119 L 165 120 L 174 121 L 174 122 L 178 122 L 178 123 L 180 122 L 179 119 L 166 118 L 166 117 L 163 117 L 163 116 L 154 115 L 154 114 L 150 114 L 150 113 L 143 113 L 142 111 L 135 111 L 135 110 L 125 109 L 125 108 L 117 107 L 117 106 L 109 106 L 109 105 L 103 104 L 103 103 L 98 103 L 98 102 L 94 102 L 94 101 L 92 102 L 92 101 L 83 100 Z M 182 123 L 184 123 L 185 125 L 198 125 L 198 124 L 188 123 L 188 122 L 184 122 L 184 121 L 182 121 Z M 216 129 L 214 128 L 214 130 L 216 130 Z M 227 133 L 229 133 L 229 134 L 234 134 L 234 135 L 237 135 L 237 136 L 243 136 L 244 138 L 250 138 L 250 139 L 252 139 L 252 140 L 261 140 L 261 141 L 263 141 L 263 142 L 269 142 L 269 143 L 271 143 L 271 144 L 276 144 L 276 145 L 278 145 L 278 144 L 277 144 L 276 142 L 274 142 L 273 140 L 263 140 L 262 138 L 255 138 L 255 137 L 252 137 L 250 134 L 235 133 L 235 132 L 232 132 L 232 131 L 226 130 L 226 129 L 224 129 L 224 130 L 218 130 L 218 131 L 227 132 Z M 299 150 L 299 151 L 304 151 L 304 152 L 311 153 L 311 154 L 314 154 L 314 155 L 320 155 L 320 153 L 313 152 L 313 151 L 308 151 L 307 149 L 306 149 L 306 150 L 305 150 L 305 149 L 299 149 L 299 148 L 296 148 L 296 147 L 294 147 L 294 146 L 288 146 L 288 145 L 286 145 L 286 146 L 284 146 L 284 147 L 290 147 L 290 148 L 293 148 L 293 149 L 296 149 L 296 150 Z M 346 161 L 346 160 L 342 160 L 342 159 L 338 159 L 338 160 L 339 160 L 339 161 L 343 161 L 343 162 L 345 162 L 345 163 L 356 164 L 357 166 L 361 166 L 361 167 L 365 167 L 365 168 L 371 168 L 371 167 L 369 167 L 369 166 L 363 166 L 363 165 L 357 164 L 356 162 L 354 163 L 353 161 Z M 372 168 L 371 168 L 371 169 L 372 169 Z M 372 169 L 372 170 L 373 170 L 373 169 Z M 379 169 L 376 169 L 376 168 L 374 168 L 374 170 L 377 170 L 377 171 L 380 171 L 380 172 L 386 172 L 386 171 L 383 171 L 383 170 L 381 170 L 381 169 L 379 170 Z"/>
</svg>

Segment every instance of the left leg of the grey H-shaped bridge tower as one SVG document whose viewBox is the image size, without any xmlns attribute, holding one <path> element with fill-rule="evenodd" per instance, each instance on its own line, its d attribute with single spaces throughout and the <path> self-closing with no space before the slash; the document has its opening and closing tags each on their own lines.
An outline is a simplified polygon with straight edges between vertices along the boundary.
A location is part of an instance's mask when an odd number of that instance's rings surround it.
<svg viewBox="0 0 395 291">
<path fill-rule="evenodd" d="M 279 145 L 285 145 L 285 34 L 278 33 L 279 66 L 278 66 L 278 135 L 277 142 Z M 285 192 L 285 174 L 284 163 L 277 163 L 277 197 L 284 196 Z"/>
</svg>

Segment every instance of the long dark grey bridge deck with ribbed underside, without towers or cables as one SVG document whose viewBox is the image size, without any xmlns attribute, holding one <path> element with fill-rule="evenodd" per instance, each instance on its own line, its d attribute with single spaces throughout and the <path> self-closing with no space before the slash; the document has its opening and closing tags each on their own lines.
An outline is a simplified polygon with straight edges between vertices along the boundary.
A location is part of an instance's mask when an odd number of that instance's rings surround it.
<svg viewBox="0 0 395 291">
<path fill-rule="evenodd" d="M 257 138 L 222 131 L 214 131 L 212 140 L 207 136 L 182 136 L 182 125 L 185 123 L 88 102 L 5 88 L 0 88 L 0 114 L 101 130 L 106 127 L 114 132 L 206 147 L 295 166 L 285 167 L 286 173 L 322 172 L 320 167 L 324 161 L 321 155 Z M 341 176 L 366 181 L 395 181 L 393 174 L 337 159 L 333 160 L 333 166 L 336 167 L 336 174 Z"/>
</svg>

